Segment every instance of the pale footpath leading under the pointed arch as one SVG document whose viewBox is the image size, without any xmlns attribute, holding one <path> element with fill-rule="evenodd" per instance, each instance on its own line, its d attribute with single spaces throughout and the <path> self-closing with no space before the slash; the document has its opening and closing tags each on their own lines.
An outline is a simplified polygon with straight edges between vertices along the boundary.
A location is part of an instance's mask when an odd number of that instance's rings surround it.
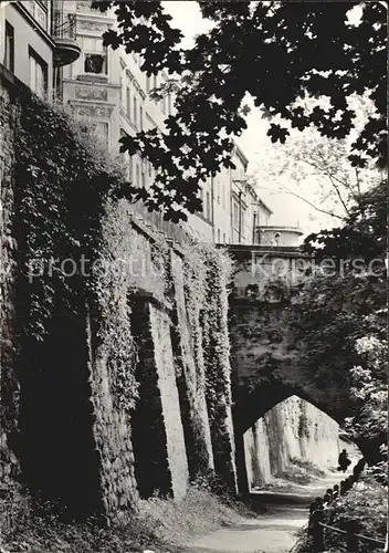
<svg viewBox="0 0 389 553">
<path fill-rule="evenodd" d="M 182 553 L 288 553 L 296 532 L 308 522 L 309 504 L 350 472 L 328 472 L 307 486 L 292 484 L 287 492 L 254 491 L 266 512 L 222 528 L 185 544 Z"/>
</svg>

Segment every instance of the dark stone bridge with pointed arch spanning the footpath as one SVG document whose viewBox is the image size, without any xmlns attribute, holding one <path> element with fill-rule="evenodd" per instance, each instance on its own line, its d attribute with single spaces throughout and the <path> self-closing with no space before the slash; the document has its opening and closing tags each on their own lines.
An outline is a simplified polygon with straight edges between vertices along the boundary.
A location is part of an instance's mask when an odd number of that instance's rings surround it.
<svg viewBox="0 0 389 553">
<path fill-rule="evenodd" d="M 230 340 L 236 469 L 246 489 L 243 435 L 267 410 L 297 395 L 340 422 L 349 415 L 348 383 L 318 383 L 315 371 L 302 366 L 304 343 L 296 343 L 288 310 L 312 259 L 296 247 L 230 246 L 234 260 L 230 294 Z M 293 309 L 293 307 L 292 307 Z M 335 378 L 336 382 L 336 378 Z"/>
</svg>

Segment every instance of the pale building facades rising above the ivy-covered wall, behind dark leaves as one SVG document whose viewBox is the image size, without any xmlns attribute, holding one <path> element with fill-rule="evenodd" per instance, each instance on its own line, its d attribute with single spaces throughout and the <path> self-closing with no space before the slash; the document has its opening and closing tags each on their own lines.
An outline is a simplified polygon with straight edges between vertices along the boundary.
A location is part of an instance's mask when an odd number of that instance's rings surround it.
<svg viewBox="0 0 389 553">
<path fill-rule="evenodd" d="M 140 71 L 139 54 L 103 45 L 103 33 L 116 24 L 112 12 L 92 10 L 90 0 L 35 0 L 8 2 L 0 13 L 4 38 L 0 60 L 6 67 L 40 96 L 60 96 L 75 117 L 94 126 L 113 155 L 119 152 L 120 137 L 162 131 L 165 118 L 174 114 L 172 95 L 161 101 L 150 96 L 169 75 L 147 77 Z M 146 188 L 153 184 L 149 161 L 128 154 L 123 160 L 129 181 Z M 161 213 L 149 213 L 140 202 L 134 206 L 134 216 L 168 231 L 170 238 L 188 234 L 215 243 L 256 242 L 256 227 L 269 225 L 272 211 L 248 178 L 248 159 L 238 146 L 232 160 L 235 169 L 222 168 L 201 185 L 202 211 L 188 213 L 180 226 L 164 221 Z"/>
</svg>

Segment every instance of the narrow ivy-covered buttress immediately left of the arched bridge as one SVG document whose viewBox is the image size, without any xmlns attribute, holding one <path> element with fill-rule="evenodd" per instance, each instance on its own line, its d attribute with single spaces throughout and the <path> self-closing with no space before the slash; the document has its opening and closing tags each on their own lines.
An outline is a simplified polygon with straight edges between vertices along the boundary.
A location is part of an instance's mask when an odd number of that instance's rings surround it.
<svg viewBox="0 0 389 553">
<path fill-rule="evenodd" d="M 228 285 L 231 260 L 211 246 L 198 246 L 185 258 L 189 324 L 192 328 L 199 386 L 204 390 L 215 472 L 231 490 L 238 490 Z"/>
</svg>

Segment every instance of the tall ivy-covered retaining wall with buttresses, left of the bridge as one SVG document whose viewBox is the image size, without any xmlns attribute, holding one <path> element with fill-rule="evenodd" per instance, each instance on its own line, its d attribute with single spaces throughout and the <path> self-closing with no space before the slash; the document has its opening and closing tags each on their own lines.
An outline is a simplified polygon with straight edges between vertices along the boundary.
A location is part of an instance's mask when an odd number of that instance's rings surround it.
<svg viewBox="0 0 389 553">
<path fill-rule="evenodd" d="M 19 458 L 32 490 L 105 523 L 210 470 L 235 489 L 228 258 L 134 221 L 130 184 L 87 125 L 18 86 L 2 165 L 17 324 L 1 344 L 18 439 L 2 470 Z"/>
</svg>

